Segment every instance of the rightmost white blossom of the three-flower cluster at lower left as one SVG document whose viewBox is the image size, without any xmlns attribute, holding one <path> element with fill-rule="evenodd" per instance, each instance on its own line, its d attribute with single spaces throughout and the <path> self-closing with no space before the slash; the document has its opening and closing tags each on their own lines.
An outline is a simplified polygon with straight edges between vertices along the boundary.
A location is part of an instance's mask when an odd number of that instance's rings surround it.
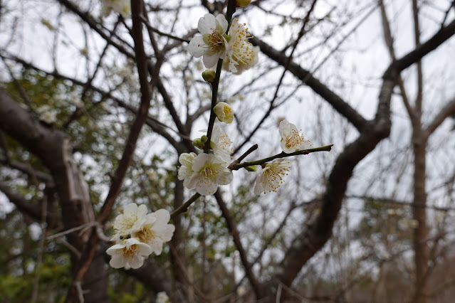
<svg viewBox="0 0 455 303">
<path fill-rule="evenodd" d="M 169 242 L 174 235 L 175 226 L 167 224 L 170 218 L 169 211 L 165 209 L 149 213 L 142 219 L 140 229 L 132 233 L 132 237 L 149 245 L 155 255 L 161 255 L 163 244 Z"/>
</svg>

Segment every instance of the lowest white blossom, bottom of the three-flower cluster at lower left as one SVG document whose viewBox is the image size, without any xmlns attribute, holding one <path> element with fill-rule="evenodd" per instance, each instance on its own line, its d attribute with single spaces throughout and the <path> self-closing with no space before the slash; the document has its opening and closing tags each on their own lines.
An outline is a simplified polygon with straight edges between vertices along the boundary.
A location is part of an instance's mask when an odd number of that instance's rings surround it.
<svg viewBox="0 0 455 303">
<path fill-rule="evenodd" d="M 125 267 L 136 269 L 144 264 L 145 257 L 152 253 L 152 248 L 145 243 L 141 243 L 136 238 L 122 240 L 122 243 L 115 244 L 106 250 L 111 255 L 109 265 L 114 268 Z"/>
</svg>

